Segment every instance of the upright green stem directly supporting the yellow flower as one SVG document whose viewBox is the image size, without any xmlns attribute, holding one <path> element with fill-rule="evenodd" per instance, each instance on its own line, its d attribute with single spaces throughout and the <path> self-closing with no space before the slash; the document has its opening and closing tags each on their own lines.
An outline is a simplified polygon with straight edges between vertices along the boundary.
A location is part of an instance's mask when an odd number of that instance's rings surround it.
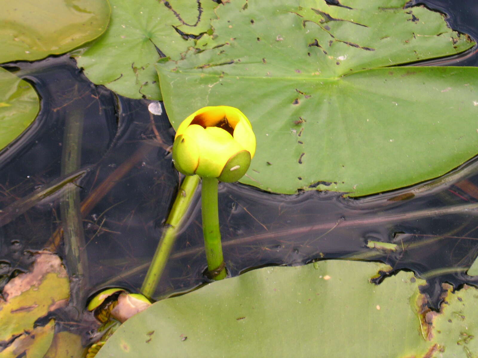
<svg viewBox="0 0 478 358">
<path fill-rule="evenodd" d="M 221 233 L 219 232 L 217 184 L 216 178 L 202 178 L 201 208 L 207 270 L 210 278 L 222 280 L 226 277 L 226 268 L 222 257 Z"/>
</svg>

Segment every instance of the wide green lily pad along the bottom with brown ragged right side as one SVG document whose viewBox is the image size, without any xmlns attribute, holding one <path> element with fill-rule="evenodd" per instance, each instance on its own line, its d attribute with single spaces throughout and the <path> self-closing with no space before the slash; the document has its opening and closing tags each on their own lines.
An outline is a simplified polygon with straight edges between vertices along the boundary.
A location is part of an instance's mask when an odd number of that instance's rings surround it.
<svg viewBox="0 0 478 358">
<path fill-rule="evenodd" d="M 425 319 L 418 312 L 426 312 L 419 294 L 423 280 L 400 272 L 379 285 L 370 283 L 389 269 L 332 260 L 253 270 L 153 304 L 124 323 L 97 358 L 149 358 L 157 352 L 163 357 L 385 358 L 439 350 L 467 357 L 462 347 L 456 349 L 456 340 L 478 333 L 473 324 L 478 291 L 449 294 L 443 313 Z M 468 339 L 467 349 L 476 355 L 478 342 Z"/>
</svg>

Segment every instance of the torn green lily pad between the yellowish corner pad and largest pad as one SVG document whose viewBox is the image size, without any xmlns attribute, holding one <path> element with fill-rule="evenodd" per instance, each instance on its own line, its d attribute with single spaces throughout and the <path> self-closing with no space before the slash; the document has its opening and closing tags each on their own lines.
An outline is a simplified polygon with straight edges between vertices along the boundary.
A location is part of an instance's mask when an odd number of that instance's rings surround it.
<svg viewBox="0 0 478 358">
<path fill-rule="evenodd" d="M 154 63 L 179 59 L 210 28 L 214 1 L 110 0 L 108 31 L 77 57 L 95 84 L 130 98 L 161 99 Z"/>
</svg>

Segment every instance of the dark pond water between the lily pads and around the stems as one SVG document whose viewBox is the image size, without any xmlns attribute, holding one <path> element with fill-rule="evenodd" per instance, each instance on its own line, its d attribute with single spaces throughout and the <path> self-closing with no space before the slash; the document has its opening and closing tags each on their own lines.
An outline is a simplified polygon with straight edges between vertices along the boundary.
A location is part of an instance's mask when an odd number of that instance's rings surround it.
<svg viewBox="0 0 478 358">
<path fill-rule="evenodd" d="M 466 0 L 425 5 L 448 13 L 455 30 L 478 38 L 478 5 L 471 7 Z M 475 52 L 427 64 L 477 66 Z M 80 116 L 85 174 L 76 184 L 81 200 L 93 192 L 100 199 L 84 215 L 88 278 L 76 287 L 80 305 L 105 287 L 138 291 L 180 179 L 167 150 L 174 131 L 162 104 L 149 106 L 151 101 L 117 96 L 91 84 L 68 55 L 4 67 L 33 83 L 42 102 L 32 128 L 0 157 L 0 285 L 27 270 L 32 259 L 28 250 L 52 247 L 61 196 L 49 196 L 32 208 L 19 200 L 62 177 L 65 121 Z M 437 306 L 443 282 L 478 284 L 478 278 L 466 274 L 478 255 L 476 214 L 464 209 L 447 213 L 477 202 L 477 159 L 447 178 L 361 199 L 317 191 L 276 195 L 221 183 L 219 221 L 229 274 L 325 258 L 378 260 L 395 271 L 413 270 L 427 278 L 425 290 Z M 111 188 L 93 191 L 105 181 Z M 424 190 L 430 186 L 432 190 Z M 206 281 L 199 196 L 193 207 L 155 298 Z M 399 250 L 371 250 L 368 241 L 393 242 Z M 64 255 L 63 246 L 58 253 Z"/>
</svg>

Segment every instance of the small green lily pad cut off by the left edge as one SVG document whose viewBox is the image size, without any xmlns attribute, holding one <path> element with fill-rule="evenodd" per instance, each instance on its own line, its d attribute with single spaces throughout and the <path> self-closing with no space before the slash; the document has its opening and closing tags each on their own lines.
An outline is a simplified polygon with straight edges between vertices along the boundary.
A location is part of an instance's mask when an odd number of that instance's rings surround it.
<svg viewBox="0 0 478 358">
<path fill-rule="evenodd" d="M 0 67 L 0 149 L 32 124 L 39 109 L 32 85 Z"/>
</svg>

